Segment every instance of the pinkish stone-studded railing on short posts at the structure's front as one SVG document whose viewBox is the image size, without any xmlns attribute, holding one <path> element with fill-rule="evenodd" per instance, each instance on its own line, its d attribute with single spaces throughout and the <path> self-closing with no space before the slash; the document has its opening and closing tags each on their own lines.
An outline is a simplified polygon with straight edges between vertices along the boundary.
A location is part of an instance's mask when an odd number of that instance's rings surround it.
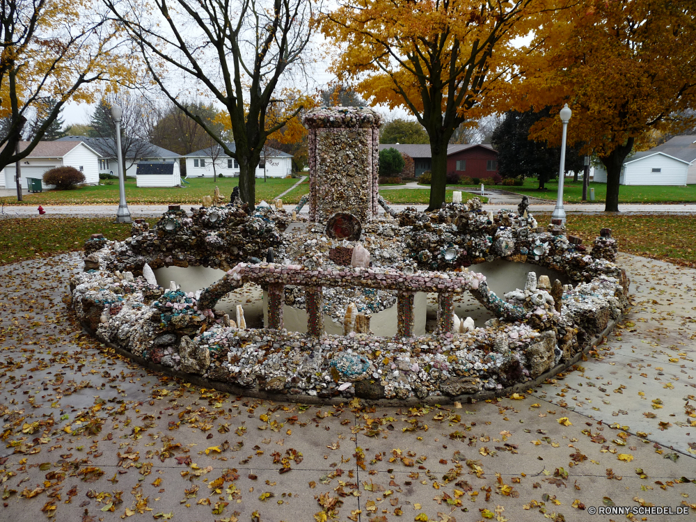
<svg viewBox="0 0 696 522">
<path fill-rule="evenodd" d="M 372 270 L 347 267 L 342 270 L 309 270 L 299 265 L 272 263 L 237 264 L 220 280 L 207 287 L 198 299 L 199 310 L 210 310 L 224 295 L 242 287 L 244 283 L 257 283 L 268 287 L 268 318 L 271 329 L 283 329 L 283 304 L 285 285 L 302 286 L 306 294 L 307 331 L 310 335 L 322 335 L 322 287 L 362 287 L 397 292 L 397 337 L 413 337 L 413 298 L 416 292 L 438 294 L 438 332 L 452 331 L 454 320 L 453 296 L 470 291 L 484 306 L 498 303 L 488 290 L 485 277 L 476 272 L 461 272 L 453 277 L 441 272 L 405 274 L 392 270 Z M 492 294 L 492 295 L 491 295 Z M 493 309 L 493 308 L 491 308 Z M 498 304 L 494 309 L 500 312 Z"/>
</svg>

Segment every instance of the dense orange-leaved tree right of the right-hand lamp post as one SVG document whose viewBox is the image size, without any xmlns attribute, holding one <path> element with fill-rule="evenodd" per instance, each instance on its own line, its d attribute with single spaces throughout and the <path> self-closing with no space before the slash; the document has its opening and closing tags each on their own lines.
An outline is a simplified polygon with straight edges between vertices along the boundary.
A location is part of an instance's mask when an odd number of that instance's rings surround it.
<svg viewBox="0 0 696 522">
<path fill-rule="evenodd" d="M 518 106 L 552 106 L 532 134 L 558 143 L 558 111 L 569 103 L 569 143 L 583 142 L 606 168 L 607 212 L 619 209 L 622 166 L 636 145 L 653 129 L 693 127 L 695 40 L 690 1 L 586 0 L 548 17 L 528 46 Z"/>
</svg>

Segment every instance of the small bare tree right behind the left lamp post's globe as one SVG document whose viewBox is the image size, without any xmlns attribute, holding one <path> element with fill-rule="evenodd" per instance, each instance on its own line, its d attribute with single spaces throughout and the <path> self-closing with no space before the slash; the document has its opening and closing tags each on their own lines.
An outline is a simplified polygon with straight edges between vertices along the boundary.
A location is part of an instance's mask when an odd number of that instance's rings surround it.
<svg viewBox="0 0 696 522">
<path fill-rule="evenodd" d="M 140 94 L 121 93 L 102 98 L 90 120 L 92 130 L 89 144 L 105 157 L 117 158 L 116 123 L 111 118 L 111 106 L 120 105 L 121 155 L 123 173 L 146 157 L 157 155 L 157 149 L 148 141 L 152 118 L 156 111 L 150 101 Z"/>
</svg>

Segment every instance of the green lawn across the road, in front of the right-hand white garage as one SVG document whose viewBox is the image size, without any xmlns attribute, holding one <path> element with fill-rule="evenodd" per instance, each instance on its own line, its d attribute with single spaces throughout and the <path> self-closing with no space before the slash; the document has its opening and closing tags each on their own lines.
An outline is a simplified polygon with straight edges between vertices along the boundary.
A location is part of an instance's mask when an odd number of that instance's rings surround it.
<svg viewBox="0 0 696 522">
<path fill-rule="evenodd" d="M 548 182 L 545 184 L 546 191 L 539 191 L 539 182 L 536 178 L 530 177 L 525 180 L 523 187 L 503 187 L 496 186 L 496 189 L 503 189 L 510 192 L 527 194 L 535 198 L 554 200 L 557 196 L 558 182 Z M 604 203 L 606 200 L 606 183 L 592 183 L 594 187 L 594 203 Z M 590 191 L 587 191 L 587 203 Z M 563 200 L 566 203 L 583 203 L 583 181 L 574 182 L 572 177 L 566 178 L 563 187 Z M 689 203 L 696 201 L 696 184 L 686 187 L 665 187 L 661 185 L 621 185 L 619 187 L 619 203 Z"/>
</svg>

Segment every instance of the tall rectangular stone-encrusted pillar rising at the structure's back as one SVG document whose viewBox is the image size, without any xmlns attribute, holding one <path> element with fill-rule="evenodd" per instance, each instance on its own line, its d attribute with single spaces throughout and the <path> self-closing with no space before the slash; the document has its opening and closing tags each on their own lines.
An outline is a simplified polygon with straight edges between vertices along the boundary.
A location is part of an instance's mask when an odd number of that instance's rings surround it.
<svg viewBox="0 0 696 522">
<path fill-rule="evenodd" d="M 366 107 L 320 107 L 309 129 L 309 216 L 326 223 L 347 212 L 361 222 L 377 215 L 381 116 Z"/>
</svg>

